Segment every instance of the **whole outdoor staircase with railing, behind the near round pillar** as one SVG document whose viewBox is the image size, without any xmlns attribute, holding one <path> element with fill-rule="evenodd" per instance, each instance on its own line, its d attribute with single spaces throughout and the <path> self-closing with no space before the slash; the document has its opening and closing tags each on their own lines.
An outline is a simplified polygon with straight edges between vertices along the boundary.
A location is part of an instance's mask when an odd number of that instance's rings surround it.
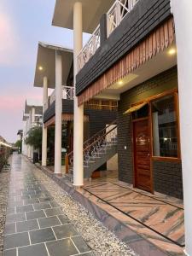
<svg viewBox="0 0 192 256">
<path fill-rule="evenodd" d="M 84 178 L 110 160 L 117 153 L 116 120 L 84 142 Z M 73 152 L 66 155 L 66 177 L 73 182 Z"/>
</svg>

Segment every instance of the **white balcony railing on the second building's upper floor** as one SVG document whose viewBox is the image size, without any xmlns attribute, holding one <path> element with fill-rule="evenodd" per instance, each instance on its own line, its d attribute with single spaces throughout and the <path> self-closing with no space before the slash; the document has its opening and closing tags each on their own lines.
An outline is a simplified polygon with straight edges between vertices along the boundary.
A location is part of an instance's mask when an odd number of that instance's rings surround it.
<svg viewBox="0 0 192 256">
<path fill-rule="evenodd" d="M 74 99 L 74 87 L 73 86 L 62 86 L 61 98 L 63 100 L 73 100 Z M 55 90 L 48 97 L 48 101 L 44 104 L 44 111 L 49 108 L 49 106 L 55 102 Z"/>
</svg>

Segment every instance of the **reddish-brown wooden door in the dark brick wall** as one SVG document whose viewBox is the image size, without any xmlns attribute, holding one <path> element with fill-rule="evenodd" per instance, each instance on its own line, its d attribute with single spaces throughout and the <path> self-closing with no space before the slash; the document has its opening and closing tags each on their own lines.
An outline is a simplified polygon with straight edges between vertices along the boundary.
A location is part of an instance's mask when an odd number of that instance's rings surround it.
<svg viewBox="0 0 192 256">
<path fill-rule="evenodd" d="M 148 119 L 133 122 L 135 186 L 153 192 Z"/>
</svg>

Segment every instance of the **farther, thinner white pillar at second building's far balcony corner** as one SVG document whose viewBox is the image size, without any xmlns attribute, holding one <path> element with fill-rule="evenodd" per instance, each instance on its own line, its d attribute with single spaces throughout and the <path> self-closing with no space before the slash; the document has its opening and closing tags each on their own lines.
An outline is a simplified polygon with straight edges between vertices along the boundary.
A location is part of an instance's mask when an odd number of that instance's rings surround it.
<svg viewBox="0 0 192 256">
<path fill-rule="evenodd" d="M 44 104 L 48 100 L 48 81 L 47 77 L 44 77 L 44 95 L 43 95 L 43 111 L 44 109 Z M 42 126 L 42 166 L 47 166 L 47 127 Z"/>
</svg>

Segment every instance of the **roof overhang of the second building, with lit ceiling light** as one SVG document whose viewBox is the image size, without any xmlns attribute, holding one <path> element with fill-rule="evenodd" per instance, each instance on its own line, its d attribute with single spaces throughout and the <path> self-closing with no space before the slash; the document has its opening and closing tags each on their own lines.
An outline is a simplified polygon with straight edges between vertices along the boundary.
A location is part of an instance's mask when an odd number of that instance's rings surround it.
<svg viewBox="0 0 192 256">
<path fill-rule="evenodd" d="M 62 84 L 67 84 L 68 74 L 73 64 L 73 49 L 39 42 L 34 78 L 35 87 L 43 87 L 44 77 L 47 77 L 48 88 L 55 88 L 55 52 L 57 50 L 60 51 L 62 57 Z"/>
</svg>

